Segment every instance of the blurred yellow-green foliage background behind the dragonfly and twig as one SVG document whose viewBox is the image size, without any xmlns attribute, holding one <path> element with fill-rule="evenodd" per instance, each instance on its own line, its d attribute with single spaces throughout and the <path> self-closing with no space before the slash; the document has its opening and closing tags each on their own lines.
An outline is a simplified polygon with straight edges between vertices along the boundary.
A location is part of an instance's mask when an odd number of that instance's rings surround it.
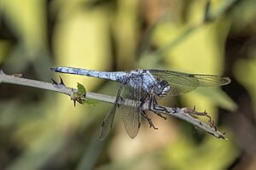
<svg viewBox="0 0 256 170">
<path fill-rule="evenodd" d="M 166 105 L 209 112 L 229 140 L 150 114 L 136 139 L 111 105 L 0 84 L 0 169 L 253 169 L 256 167 L 255 0 L 1 0 L 0 67 L 50 82 L 65 65 L 98 71 L 158 68 L 231 78 Z M 119 85 L 61 74 L 67 86 L 115 95 Z M 203 119 L 204 120 L 204 119 Z M 206 121 L 206 120 L 204 120 Z"/>
</svg>

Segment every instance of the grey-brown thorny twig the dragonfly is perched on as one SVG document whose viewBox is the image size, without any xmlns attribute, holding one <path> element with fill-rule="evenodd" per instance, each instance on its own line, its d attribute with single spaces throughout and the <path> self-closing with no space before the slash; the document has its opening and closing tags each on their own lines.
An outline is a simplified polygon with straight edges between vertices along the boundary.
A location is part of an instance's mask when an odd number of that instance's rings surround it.
<svg viewBox="0 0 256 170">
<path fill-rule="evenodd" d="M 20 75 L 17 76 L 16 74 L 15 75 L 6 75 L 3 73 L 2 70 L 0 70 L 0 83 L 5 82 L 5 83 L 18 84 L 18 85 L 23 85 L 23 86 L 33 87 L 33 88 L 47 89 L 47 90 L 58 92 L 61 94 L 67 94 L 68 96 L 71 97 L 71 99 L 79 101 L 79 99 L 73 98 L 73 96 L 75 96 L 74 93 L 77 93 L 78 89 L 68 88 L 62 80 L 61 80 L 61 83 L 57 83 L 54 80 L 52 80 L 52 81 L 53 81 L 52 83 L 41 82 L 41 81 L 26 79 L 26 78 L 20 77 Z M 104 94 L 96 94 L 96 93 L 91 93 L 91 92 L 87 92 L 85 97 L 87 99 L 96 99 L 99 101 L 108 102 L 108 103 L 112 103 L 112 104 L 115 101 L 114 96 L 109 96 L 109 95 L 104 95 Z M 119 104 L 122 103 L 123 105 L 129 105 L 129 103 L 131 102 L 131 99 L 122 99 L 122 101 L 119 100 L 118 102 L 119 102 Z M 177 107 L 170 108 L 170 107 L 166 107 L 166 106 L 162 106 L 162 107 L 165 107 L 166 110 L 154 111 L 154 112 L 158 112 L 158 113 L 166 114 L 166 115 L 170 115 L 170 116 L 176 116 L 186 122 L 193 124 L 195 127 L 199 127 L 201 129 L 203 129 L 204 131 L 212 134 L 214 137 L 216 137 L 218 139 L 225 139 L 224 133 L 221 133 L 218 131 L 215 122 L 212 121 L 211 117 L 207 115 L 206 111 L 198 112 L 198 111 L 195 111 L 195 108 L 189 109 L 188 107 L 184 107 L 184 108 L 177 108 Z M 149 110 L 148 102 L 145 102 L 145 104 L 143 105 L 143 110 L 144 111 Z M 195 118 L 195 115 L 209 117 L 209 125 L 207 123 L 201 122 L 200 120 Z"/>
</svg>

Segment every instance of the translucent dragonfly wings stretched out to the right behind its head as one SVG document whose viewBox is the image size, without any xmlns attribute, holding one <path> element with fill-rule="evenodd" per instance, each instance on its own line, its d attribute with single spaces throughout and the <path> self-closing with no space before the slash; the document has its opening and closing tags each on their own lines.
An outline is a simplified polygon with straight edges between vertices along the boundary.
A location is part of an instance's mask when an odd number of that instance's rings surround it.
<svg viewBox="0 0 256 170">
<path fill-rule="evenodd" d="M 178 71 L 149 70 L 158 79 L 166 80 L 171 86 L 171 95 L 188 93 L 198 87 L 216 87 L 230 83 L 229 77 L 189 74 Z"/>
</svg>

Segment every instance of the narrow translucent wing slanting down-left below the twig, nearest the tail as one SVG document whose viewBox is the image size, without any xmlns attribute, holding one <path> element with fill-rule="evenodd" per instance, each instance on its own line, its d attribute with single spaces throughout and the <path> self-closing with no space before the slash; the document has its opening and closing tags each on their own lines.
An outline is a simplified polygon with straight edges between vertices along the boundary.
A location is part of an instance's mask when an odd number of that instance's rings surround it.
<svg viewBox="0 0 256 170">
<path fill-rule="evenodd" d="M 118 99 L 119 99 L 119 96 L 121 94 L 121 91 L 122 91 L 123 87 L 124 87 L 124 85 L 121 84 L 121 87 L 119 88 L 119 91 L 116 95 L 116 99 L 115 99 L 115 102 L 113 104 L 113 107 L 111 108 L 110 111 L 108 111 L 107 116 L 105 116 L 104 121 L 102 122 L 102 127 L 101 127 L 101 130 L 100 130 L 100 137 L 99 137 L 100 140 L 105 139 L 108 136 L 108 133 L 109 133 L 110 129 L 112 128 L 116 107 L 118 105 L 117 102 L 118 102 Z"/>
</svg>

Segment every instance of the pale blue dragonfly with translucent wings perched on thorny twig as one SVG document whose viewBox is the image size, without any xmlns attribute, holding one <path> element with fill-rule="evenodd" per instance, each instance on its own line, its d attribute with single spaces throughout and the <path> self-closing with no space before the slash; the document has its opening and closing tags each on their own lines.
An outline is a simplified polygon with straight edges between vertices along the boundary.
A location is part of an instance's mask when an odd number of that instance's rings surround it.
<svg viewBox="0 0 256 170">
<path fill-rule="evenodd" d="M 149 127 L 154 123 L 143 110 L 143 105 L 148 101 L 148 108 L 155 114 L 165 118 L 157 111 L 166 111 L 166 108 L 158 105 L 157 98 L 186 94 L 198 87 L 218 87 L 230 83 L 229 77 L 217 75 L 190 74 L 168 70 L 133 70 L 133 71 L 93 71 L 82 68 L 58 66 L 52 71 L 108 79 L 120 83 L 112 108 L 102 122 L 99 139 L 108 136 L 118 110 L 122 113 L 122 120 L 126 133 L 134 139 L 141 126 L 142 118 L 146 118 Z M 119 99 L 130 99 L 129 104 L 119 104 Z M 157 129 L 157 127 L 154 127 Z"/>
</svg>

